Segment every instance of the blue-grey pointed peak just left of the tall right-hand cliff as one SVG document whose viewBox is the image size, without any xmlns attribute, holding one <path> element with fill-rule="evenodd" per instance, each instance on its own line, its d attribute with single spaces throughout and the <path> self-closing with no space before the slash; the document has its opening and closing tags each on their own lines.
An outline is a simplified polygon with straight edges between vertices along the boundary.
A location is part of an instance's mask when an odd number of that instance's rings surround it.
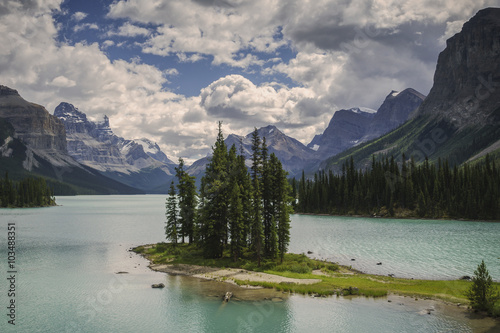
<svg viewBox="0 0 500 333">
<path fill-rule="evenodd" d="M 391 91 L 378 108 L 367 133 L 361 141 L 368 141 L 382 136 L 408 120 L 412 111 L 422 104 L 425 95 L 412 88 L 401 92 Z"/>
</svg>

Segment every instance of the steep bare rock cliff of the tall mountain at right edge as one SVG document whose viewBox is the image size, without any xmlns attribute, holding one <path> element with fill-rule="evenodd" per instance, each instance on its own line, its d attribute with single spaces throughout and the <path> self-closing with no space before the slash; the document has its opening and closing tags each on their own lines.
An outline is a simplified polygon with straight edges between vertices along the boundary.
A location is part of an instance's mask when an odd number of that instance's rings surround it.
<svg viewBox="0 0 500 333">
<path fill-rule="evenodd" d="M 479 11 L 439 54 L 434 85 L 415 112 L 458 129 L 497 122 L 500 108 L 500 8 Z"/>
</svg>

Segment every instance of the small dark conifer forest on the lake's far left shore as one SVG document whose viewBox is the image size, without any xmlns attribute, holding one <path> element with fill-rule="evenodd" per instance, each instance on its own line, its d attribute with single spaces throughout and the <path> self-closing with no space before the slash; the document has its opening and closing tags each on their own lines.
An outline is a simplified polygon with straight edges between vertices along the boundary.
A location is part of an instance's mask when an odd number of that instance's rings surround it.
<svg viewBox="0 0 500 333">
<path fill-rule="evenodd" d="M 45 179 L 27 177 L 12 181 L 6 172 L 0 179 L 0 207 L 45 207 L 55 206 L 52 189 Z"/>
</svg>

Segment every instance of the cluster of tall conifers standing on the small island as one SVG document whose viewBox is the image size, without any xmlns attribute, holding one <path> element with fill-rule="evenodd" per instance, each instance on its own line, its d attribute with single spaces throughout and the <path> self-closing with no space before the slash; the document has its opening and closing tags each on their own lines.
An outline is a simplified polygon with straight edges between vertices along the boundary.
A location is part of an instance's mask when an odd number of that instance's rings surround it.
<svg viewBox="0 0 500 333">
<path fill-rule="evenodd" d="M 235 145 L 228 150 L 219 124 L 199 193 L 179 160 L 178 184 L 172 182 L 166 202 L 167 240 L 187 240 L 208 258 L 283 260 L 290 242 L 291 187 L 257 129 L 252 143 L 249 171 L 243 152 Z"/>
</svg>

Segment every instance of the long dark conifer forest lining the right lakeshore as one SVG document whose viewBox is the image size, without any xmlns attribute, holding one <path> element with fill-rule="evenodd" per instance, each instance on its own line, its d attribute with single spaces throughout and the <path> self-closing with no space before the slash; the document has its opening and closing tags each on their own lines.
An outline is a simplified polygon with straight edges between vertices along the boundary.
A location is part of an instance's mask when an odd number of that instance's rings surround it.
<svg viewBox="0 0 500 333">
<path fill-rule="evenodd" d="M 441 159 L 417 165 L 404 155 L 400 163 L 373 157 L 367 170 L 357 170 L 351 158 L 340 174 L 319 172 L 292 183 L 300 213 L 500 219 L 500 169 L 489 155 L 453 168 Z"/>
</svg>

